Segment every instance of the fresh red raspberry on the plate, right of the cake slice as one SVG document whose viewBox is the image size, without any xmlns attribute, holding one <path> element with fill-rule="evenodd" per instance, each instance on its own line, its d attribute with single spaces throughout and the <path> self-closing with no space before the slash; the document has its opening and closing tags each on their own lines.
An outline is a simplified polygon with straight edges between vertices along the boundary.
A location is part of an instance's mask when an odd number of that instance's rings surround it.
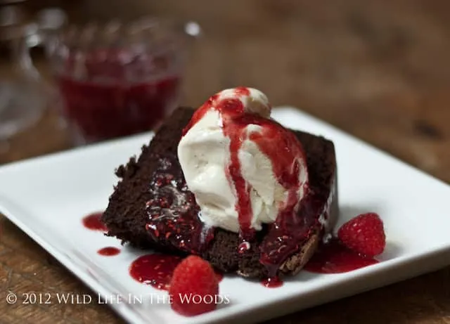
<svg viewBox="0 0 450 324">
<path fill-rule="evenodd" d="M 383 221 L 375 213 L 367 213 L 350 219 L 339 228 L 342 244 L 367 257 L 375 257 L 385 250 L 386 235 Z"/>
</svg>

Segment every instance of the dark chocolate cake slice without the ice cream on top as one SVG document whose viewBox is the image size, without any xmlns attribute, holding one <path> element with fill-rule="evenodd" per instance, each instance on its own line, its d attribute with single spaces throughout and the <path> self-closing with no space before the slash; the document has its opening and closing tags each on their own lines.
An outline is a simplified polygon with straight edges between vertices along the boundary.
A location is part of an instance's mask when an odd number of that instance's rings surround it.
<svg viewBox="0 0 450 324">
<path fill-rule="evenodd" d="M 314 254 L 317 245 L 338 216 L 334 145 L 321 136 L 293 131 L 307 155 L 310 195 L 300 209 L 298 223 L 286 224 L 296 235 L 264 225 L 248 250 L 241 251 L 238 233 L 205 228 L 200 209 L 188 190 L 178 157 L 181 133 L 193 115 L 179 108 L 159 129 L 139 158 L 120 166 L 120 178 L 102 221 L 108 235 L 143 249 L 199 254 L 225 273 L 251 278 L 295 274 Z M 271 264 L 262 253 L 270 252 Z"/>
</svg>

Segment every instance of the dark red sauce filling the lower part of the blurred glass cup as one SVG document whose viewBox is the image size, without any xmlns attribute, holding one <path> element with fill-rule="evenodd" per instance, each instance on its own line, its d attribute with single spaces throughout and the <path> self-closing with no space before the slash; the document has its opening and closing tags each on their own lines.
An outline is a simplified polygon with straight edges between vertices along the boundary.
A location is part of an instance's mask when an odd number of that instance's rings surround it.
<svg viewBox="0 0 450 324">
<path fill-rule="evenodd" d="M 87 142 L 153 129 L 176 100 L 179 79 L 142 84 L 99 84 L 59 77 L 64 114 Z"/>
</svg>

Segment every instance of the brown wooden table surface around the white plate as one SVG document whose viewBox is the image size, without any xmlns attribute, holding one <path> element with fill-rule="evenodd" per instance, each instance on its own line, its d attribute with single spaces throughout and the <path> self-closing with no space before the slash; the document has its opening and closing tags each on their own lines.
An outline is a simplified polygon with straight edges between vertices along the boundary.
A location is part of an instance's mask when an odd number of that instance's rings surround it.
<svg viewBox="0 0 450 324">
<path fill-rule="evenodd" d="M 87 2 L 73 19 L 146 12 L 200 22 L 205 36 L 189 58 L 184 104 L 255 86 L 274 105 L 301 107 L 450 181 L 449 1 L 117 0 L 107 9 L 105 1 Z M 0 163 L 65 148 L 49 110 L 0 146 Z M 0 225 L 0 323 L 122 323 L 98 304 L 6 304 L 6 290 L 89 291 L 10 221 Z M 267 323 L 332 321 L 450 323 L 450 268 Z"/>
</svg>

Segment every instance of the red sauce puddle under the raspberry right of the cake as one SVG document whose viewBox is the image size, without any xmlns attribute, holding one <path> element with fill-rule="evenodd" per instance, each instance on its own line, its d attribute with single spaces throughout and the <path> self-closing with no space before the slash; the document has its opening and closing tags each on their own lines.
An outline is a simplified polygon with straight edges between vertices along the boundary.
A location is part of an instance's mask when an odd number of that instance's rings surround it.
<svg viewBox="0 0 450 324">
<path fill-rule="evenodd" d="M 371 257 L 349 250 L 340 244 L 338 239 L 332 239 L 319 248 L 304 266 L 304 270 L 315 273 L 342 273 L 377 263 L 378 261 Z"/>
</svg>

